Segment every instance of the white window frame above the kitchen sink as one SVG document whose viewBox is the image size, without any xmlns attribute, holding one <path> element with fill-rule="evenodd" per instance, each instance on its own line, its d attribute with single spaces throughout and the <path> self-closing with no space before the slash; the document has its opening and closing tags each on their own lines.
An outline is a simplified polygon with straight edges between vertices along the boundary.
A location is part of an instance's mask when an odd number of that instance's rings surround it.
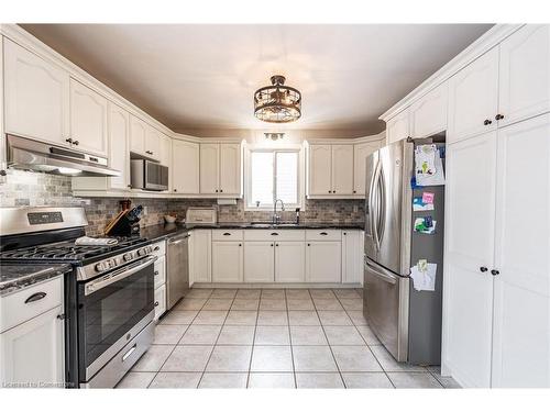
<svg viewBox="0 0 550 412">
<path fill-rule="evenodd" d="M 273 204 L 265 204 L 265 205 L 260 205 L 256 207 L 254 204 L 249 204 L 249 201 L 251 201 L 252 198 L 252 153 L 254 152 L 263 152 L 263 153 L 272 153 L 273 156 L 275 157 L 276 153 L 297 153 L 298 154 L 298 203 L 296 204 L 286 204 L 285 203 L 285 209 L 290 210 L 295 208 L 300 208 L 301 211 L 305 209 L 305 162 L 304 162 L 304 147 L 302 145 L 294 144 L 294 145 L 285 145 L 285 146 L 266 146 L 266 145 L 248 145 L 244 154 L 244 210 L 250 212 L 265 212 L 265 211 L 272 211 L 273 210 Z M 277 164 L 276 162 L 273 163 L 273 188 L 274 188 L 274 193 L 276 196 L 276 183 L 277 183 L 277 177 L 276 177 L 276 171 L 277 171 Z"/>
</svg>

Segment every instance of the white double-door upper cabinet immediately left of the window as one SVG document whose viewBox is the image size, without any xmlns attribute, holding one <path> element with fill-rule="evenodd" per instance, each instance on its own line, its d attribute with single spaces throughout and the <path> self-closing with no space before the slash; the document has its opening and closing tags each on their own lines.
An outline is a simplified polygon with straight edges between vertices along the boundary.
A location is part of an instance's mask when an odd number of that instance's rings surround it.
<svg viewBox="0 0 550 412">
<path fill-rule="evenodd" d="M 242 147 L 240 143 L 200 144 L 200 193 L 242 194 Z"/>
</svg>

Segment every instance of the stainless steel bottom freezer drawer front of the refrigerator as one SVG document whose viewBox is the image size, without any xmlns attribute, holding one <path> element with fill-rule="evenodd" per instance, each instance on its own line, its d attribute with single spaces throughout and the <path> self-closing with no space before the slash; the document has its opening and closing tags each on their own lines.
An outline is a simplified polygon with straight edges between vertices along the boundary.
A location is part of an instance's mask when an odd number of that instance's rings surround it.
<svg viewBox="0 0 550 412">
<path fill-rule="evenodd" d="M 382 344 L 398 361 L 408 354 L 409 278 L 369 258 L 364 263 L 364 314 Z"/>
</svg>

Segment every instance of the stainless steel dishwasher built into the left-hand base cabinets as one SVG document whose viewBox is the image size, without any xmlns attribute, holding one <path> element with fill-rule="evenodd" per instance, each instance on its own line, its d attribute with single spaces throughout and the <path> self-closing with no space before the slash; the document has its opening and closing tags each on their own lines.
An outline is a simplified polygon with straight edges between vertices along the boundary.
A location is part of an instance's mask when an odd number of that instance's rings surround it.
<svg viewBox="0 0 550 412">
<path fill-rule="evenodd" d="M 166 309 L 172 309 L 189 290 L 189 234 L 168 237 Z"/>
</svg>

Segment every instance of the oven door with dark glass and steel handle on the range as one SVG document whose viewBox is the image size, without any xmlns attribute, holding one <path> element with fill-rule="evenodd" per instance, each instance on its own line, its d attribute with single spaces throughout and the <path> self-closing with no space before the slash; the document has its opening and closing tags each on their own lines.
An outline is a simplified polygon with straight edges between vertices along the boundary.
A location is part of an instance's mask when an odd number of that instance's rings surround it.
<svg viewBox="0 0 550 412">
<path fill-rule="evenodd" d="M 153 320 L 155 260 L 78 285 L 78 366 L 86 381 Z"/>
</svg>

